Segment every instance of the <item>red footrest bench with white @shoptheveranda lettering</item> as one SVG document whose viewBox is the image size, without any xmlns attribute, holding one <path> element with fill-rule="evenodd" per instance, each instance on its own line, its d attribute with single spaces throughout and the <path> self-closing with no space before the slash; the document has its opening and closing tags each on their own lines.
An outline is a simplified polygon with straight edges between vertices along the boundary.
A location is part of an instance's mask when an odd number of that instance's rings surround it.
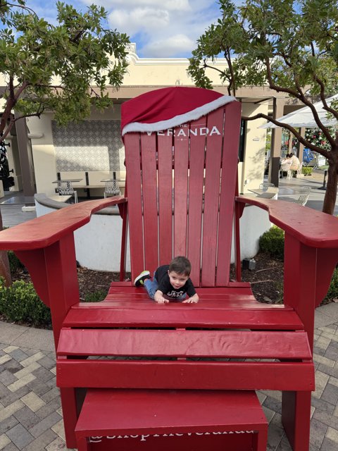
<svg viewBox="0 0 338 451">
<path fill-rule="evenodd" d="M 79 451 L 265 451 L 268 424 L 253 391 L 90 389 Z"/>
</svg>

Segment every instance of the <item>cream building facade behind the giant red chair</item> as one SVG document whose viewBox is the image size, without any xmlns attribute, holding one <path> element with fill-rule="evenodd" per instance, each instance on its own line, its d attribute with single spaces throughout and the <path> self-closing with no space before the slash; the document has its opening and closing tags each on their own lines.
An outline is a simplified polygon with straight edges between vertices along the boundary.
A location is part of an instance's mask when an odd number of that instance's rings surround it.
<svg viewBox="0 0 338 451">
<path fill-rule="evenodd" d="M 34 192 L 55 194 L 58 177 L 81 178 L 76 185 L 91 185 L 94 195 L 101 196 L 102 180 L 114 175 L 123 188 L 124 148 L 120 139 L 120 106 L 124 101 L 152 89 L 175 85 L 194 86 L 187 75 L 187 58 L 139 58 L 134 44 L 130 47 L 128 73 L 123 86 L 115 90 L 108 88 L 113 106 L 103 113 L 92 110 L 90 117 L 82 123 L 71 123 L 58 127 L 53 113 L 44 113 L 41 118 L 27 118 L 16 124 L 9 141 L 8 162 L 13 169 L 13 191 L 24 194 Z M 217 68 L 226 65 L 222 58 L 215 62 Z M 216 91 L 227 94 L 227 87 L 220 85 L 218 72 L 209 69 Z M 0 82 L 0 85 L 4 83 Z M 268 87 L 246 87 L 238 89 L 237 99 L 242 102 L 242 116 L 252 117 L 258 113 L 275 116 L 289 112 L 287 99 L 273 93 Z M 265 119 L 242 123 L 242 140 L 239 149 L 239 192 L 258 187 L 263 181 L 266 130 L 260 128 Z M 27 134 L 26 134 L 27 132 Z M 274 131 L 275 157 L 280 148 L 280 130 Z M 28 140 L 27 140 L 28 137 Z M 102 186 L 100 190 L 99 186 Z M 80 196 L 81 193 L 80 192 Z"/>
</svg>

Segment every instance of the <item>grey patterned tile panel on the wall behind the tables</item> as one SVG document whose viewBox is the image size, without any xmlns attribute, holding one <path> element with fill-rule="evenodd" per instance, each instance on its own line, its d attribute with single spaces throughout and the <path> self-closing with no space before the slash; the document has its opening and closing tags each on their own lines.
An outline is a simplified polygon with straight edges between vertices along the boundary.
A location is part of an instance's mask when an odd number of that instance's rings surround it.
<svg viewBox="0 0 338 451">
<path fill-rule="evenodd" d="M 119 171 L 124 160 L 120 121 L 52 121 L 56 171 Z M 123 168 L 121 168 L 123 169 Z"/>
</svg>

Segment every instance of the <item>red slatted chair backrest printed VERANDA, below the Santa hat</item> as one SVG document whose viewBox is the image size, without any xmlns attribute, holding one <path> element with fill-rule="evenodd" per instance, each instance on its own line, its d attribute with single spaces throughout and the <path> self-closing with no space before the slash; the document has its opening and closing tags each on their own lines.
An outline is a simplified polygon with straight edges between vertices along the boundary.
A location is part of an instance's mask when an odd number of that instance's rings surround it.
<svg viewBox="0 0 338 451">
<path fill-rule="evenodd" d="M 230 278 L 241 104 L 161 132 L 128 132 L 125 165 L 132 280 L 176 255 L 195 286 Z"/>
</svg>

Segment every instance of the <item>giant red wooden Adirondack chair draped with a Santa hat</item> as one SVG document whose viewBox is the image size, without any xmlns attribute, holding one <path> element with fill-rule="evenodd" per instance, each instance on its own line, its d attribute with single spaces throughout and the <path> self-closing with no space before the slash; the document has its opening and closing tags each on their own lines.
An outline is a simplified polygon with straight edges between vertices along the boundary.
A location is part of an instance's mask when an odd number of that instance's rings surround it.
<svg viewBox="0 0 338 451">
<path fill-rule="evenodd" d="M 238 101 L 199 88 L 165 88 L 132 99 L 122 117 L 125 197 L 68 206 L 0 233 L 0 248 L 15 251 L 51 307 L 68 447 L 76 446 L 87 388 L 122 390 L 137 405 L 139 390 L 148 390 L 146 405 L 158 389 L 201 396 L 265 389 L 282 391 L 290 443 L 295 451 L 308 450 L 314 309 L 338 260 L 337 218 L 238 196 L 240 116 Z M 123 218 L 121 280 L 103 302 L 79 302 L 73 232 L 115 204 Z M 267 210 L 285 230 L 284 305 L 257 302 L 240 280 L 239 264 L 237 280 L 230 280 L 232 230 L 239 263 L 246 204 Z M 128 234 L 131 280 L 124 280 Z M 178 254 L 192 262 L 198 304 L 159 305 L 134 288 L 141 271 Z M 95 399 L 93 418 L 104 397 Z M 128 399 L 131 404 L 122 405 L 132 405 Z M 180 405 L 177 410 L 175 418 Z M 239 412 L 245 411 L 239 402 Z"/>
</svg>

